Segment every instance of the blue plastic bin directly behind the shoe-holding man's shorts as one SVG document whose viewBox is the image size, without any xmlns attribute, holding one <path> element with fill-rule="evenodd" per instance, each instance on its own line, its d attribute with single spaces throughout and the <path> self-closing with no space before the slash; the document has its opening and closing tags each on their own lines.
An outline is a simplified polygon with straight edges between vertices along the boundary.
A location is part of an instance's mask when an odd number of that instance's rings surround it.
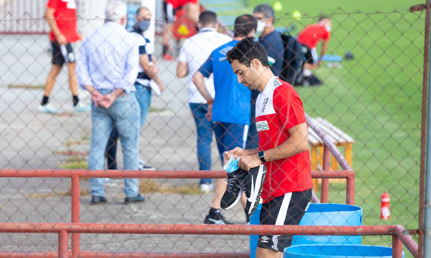
<svg viewBox="0 0 431 258">
<path fill-rule="evenodd" d="M 300 225 L 361 226 L 362 208 L 337 203 L 310 203 Z M 294 236 L 294 245 L 360 245 L 361 236 Z"/>
</svg>

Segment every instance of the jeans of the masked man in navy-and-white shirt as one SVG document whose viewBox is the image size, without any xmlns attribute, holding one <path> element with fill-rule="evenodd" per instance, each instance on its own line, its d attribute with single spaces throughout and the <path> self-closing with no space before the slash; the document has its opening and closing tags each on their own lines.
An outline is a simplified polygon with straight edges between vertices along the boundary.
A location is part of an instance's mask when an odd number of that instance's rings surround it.
<svg viewBox="0 0 431 258">
<path fill-rule="evenodd" d="M 145 119 L 147 118 L 148 111 L 150 110 L 151 104 L 151 89 L 147 86 L 143 86 L 140 83 L 134 84 L 136 88 L 136 98 L 139 102 L 139 107 L 141 107 L 141 126 L 140 129 L 145 123 Z M 109 136 L 108 144 L 106 144 L 106 160 L 108 161 L 108 169 L 117 169 L 116 162 L 116 154 L 117 154 L 117 140 L 118 140 L 118 131 L 114 127 L 111 132 L 111 136 Z"/>
</svg>

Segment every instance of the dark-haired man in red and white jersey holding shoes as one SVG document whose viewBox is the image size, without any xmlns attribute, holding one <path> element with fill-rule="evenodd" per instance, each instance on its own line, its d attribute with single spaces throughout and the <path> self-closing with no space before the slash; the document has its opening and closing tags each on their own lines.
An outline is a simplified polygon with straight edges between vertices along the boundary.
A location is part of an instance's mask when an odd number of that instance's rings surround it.
<svg viewBox="0 0 431 258">
<path fill-rule="evenodd" d="M 256 129 L 259 147 L 231 152 L 240 157 L 238 166 L 250 171 L 267 167 L 262 186 L 260 224 L 297 225 L 312 193 L 308 131 L 302 101 L 293 86 L 272 73 L 265 47 L 253 37 L 241 40 L 226 54 L 238 82 L 259 90 Z M 246 187 L 250 187 L 247 186 Z M 292 236 L 259 236 L 256 257 L 283 257 Z"/>
</svg>

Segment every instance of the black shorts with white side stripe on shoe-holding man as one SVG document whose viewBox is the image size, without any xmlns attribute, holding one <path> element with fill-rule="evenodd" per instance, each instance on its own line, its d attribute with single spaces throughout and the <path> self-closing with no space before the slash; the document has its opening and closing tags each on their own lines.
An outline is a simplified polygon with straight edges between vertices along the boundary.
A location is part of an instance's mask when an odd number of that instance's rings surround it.
<svg viewBox="0 0 431 258">
<path fill-rule="evenodd" d="M 311 201 L 312 189 L 287 193 L 262 203 L 261 225 L 297 225 Z M 257 247 L 283 252 L 292 244 L 292 235 L 259 236 Z"/>
</svg>

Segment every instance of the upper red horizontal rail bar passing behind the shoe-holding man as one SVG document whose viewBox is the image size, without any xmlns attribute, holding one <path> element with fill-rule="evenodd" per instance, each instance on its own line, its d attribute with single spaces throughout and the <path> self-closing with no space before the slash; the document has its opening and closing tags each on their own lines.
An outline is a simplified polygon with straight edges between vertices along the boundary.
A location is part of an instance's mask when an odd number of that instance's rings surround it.
<svg viewBox="0 0 431 258">
<path fill-rule="evenodd" d="M 347 178 L 352 170 L 312 170 L 312 178 Z M 221 170 L 0 169 L 0 178 L 226 178 Z"/>
</svg>

